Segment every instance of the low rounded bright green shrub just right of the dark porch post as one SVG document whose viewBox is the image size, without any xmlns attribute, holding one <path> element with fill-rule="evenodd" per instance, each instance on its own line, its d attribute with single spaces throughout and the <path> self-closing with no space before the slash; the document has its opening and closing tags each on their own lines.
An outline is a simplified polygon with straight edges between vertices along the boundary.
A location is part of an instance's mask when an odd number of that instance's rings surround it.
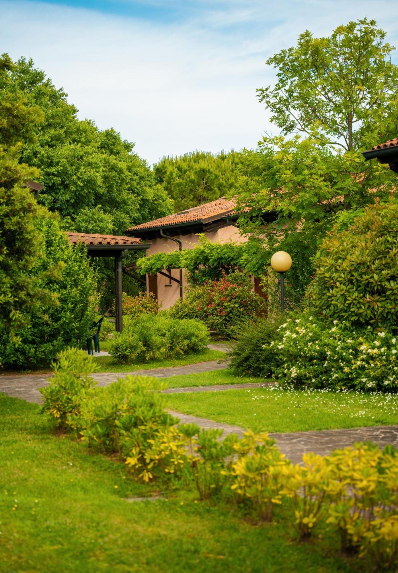
<svg viewBox="0 0 398 573">
<path fill-rule="evenodd" d="M 201 352 L 208 343 L 208 329 L 197 320 L 143 315 L 116 334 L 110 353 L 120 363 L 150 362 Z"/>
</svg>

